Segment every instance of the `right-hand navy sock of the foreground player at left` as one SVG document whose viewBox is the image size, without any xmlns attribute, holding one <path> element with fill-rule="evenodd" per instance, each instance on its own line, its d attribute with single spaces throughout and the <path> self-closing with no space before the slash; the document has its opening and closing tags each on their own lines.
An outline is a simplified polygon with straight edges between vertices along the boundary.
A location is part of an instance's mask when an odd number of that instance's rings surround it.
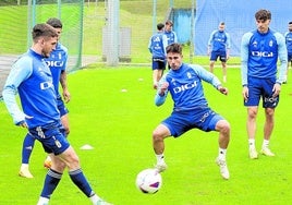
<svg viewBox="0 0 292 205">
<path fill-rule="evenodd" d="M 90 197 L 95 194 L 88 181 L 86 180 L 81 169 L 69 171 L 71 180 L 78 186 L 78 189 L 87 196 Z"/>
</svg>

